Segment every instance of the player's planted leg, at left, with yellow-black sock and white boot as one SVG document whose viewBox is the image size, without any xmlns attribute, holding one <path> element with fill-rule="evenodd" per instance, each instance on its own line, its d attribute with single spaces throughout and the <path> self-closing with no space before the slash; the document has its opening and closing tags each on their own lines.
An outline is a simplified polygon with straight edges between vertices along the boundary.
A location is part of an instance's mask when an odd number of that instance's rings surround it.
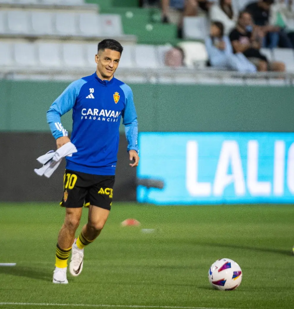
<svg viewBox="0 0 294 309">
<path fill-rule="evenodd" d="M 82 208 L 66 208 L 65 220 L 58 235 L 53 283 L 68 283 L 66 275 L 67 259 L 71 253 L 71 246 L 76 229 L 80 224 L 81 215 Z"/>
</svg>

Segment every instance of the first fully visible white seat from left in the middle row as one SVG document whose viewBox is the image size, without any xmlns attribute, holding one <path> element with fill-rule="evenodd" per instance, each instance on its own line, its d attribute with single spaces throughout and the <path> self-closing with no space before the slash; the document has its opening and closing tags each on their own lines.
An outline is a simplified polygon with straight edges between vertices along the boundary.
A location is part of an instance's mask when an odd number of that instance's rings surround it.
<svg viewBox="0 0 294 309">
<path fill-rule="evenodd" d="M 8 32 L 13 34 L 27 34 L 29 32 L 29 12 L 8 11 Z"/>
</svg>

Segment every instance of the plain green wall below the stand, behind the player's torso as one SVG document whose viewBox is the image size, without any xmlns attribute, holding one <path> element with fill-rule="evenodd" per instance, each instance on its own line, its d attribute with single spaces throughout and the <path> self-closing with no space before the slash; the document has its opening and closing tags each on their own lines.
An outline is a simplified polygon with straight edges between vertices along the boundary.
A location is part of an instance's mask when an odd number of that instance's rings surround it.
<svg viewBox="0 0 294 309">
<path fill-rule="evenodd" d="M 0 131 L 48 132 L 46 111 L 68 84 L 1 80 Z M 130 86 L 140 131 L 294 131 L 293 87 Z M 62 122 L 70 130 L 71 113 Z"/>
</svg>

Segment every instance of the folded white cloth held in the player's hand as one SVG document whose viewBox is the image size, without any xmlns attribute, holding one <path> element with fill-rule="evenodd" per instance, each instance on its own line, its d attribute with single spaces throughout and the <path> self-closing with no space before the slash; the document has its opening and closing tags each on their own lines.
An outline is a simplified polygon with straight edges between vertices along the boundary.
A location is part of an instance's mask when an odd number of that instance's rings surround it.
<svg viewBox="0 0 294 309">
<path fill-rule="evenodd" d="M 59 166 L 62 158 L 71 157 L 73 153 L 77 152 L 76 146 L 68 142 L 61 146 L 58 150 L 50 150 L 45 155 L 37 158 L 37 161 L 43 164 L 41 168 L 35 168 L 34 171 L 39 176 L 49 178 Z"/>
</svg>

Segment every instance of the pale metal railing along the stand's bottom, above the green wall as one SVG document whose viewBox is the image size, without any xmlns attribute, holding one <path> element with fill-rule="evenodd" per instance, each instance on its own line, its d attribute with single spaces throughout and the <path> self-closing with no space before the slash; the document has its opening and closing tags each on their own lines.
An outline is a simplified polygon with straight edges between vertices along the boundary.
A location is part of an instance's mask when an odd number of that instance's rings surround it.
<svg viewBox="0 0 294 309">
<path fill-rule="evenodd" d="M 0 70 L 2 79 L 28 80 L 75 80 L 93 74 L 95 67 L 85 69 L 60 68 L 13 68 Z M 118 68 L 115 77 L 128 83 L 171 83 L 171 84 L 257 84 L 292 86 L 294 73 L 257 72 L 238 73 L 212 69 L 188 68 Z"/>
</svg>

